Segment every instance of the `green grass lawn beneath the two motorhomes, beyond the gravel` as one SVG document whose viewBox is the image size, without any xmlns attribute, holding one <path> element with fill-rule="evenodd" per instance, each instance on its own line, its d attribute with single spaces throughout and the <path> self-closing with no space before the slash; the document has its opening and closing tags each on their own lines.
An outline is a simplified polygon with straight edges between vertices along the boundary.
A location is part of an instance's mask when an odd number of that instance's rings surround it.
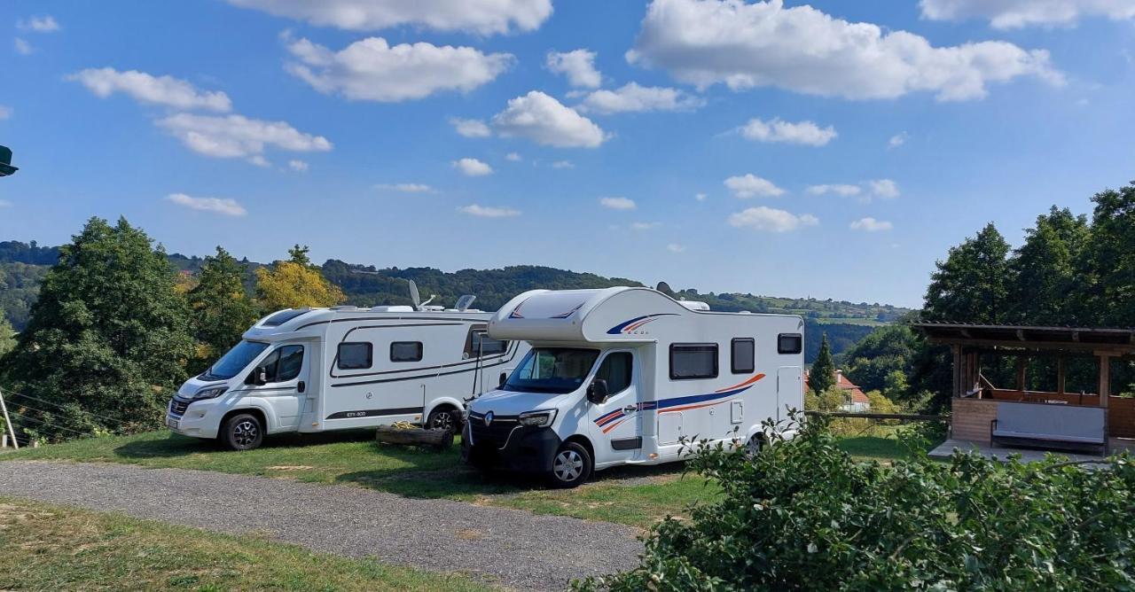
<svg viewBox="0 0 1135 592">
<path fill-rule="evenodd" d="M 849 437 L 840 442 L 860 459 L 886 460 L 908 454 L 889 437 Z M 683 474 L 680 463 L 609 468 L 578 489 L 554 490 L 528 475 L 470 470 L 461 464 L 459 451 L 456 446 L 443 453 L 380 446 L 365 431 L 270 438 L 257 450 L 233 453 L 210 441 L 148 432 L 43 446 L 3 459 L 127 463 L 343 483 L 412 498 L 445 498 L 639 527 L 667 515 L 684 515 L 690 504 L 712 501 L 717 494 L 713 483 Z"/>
</svg>

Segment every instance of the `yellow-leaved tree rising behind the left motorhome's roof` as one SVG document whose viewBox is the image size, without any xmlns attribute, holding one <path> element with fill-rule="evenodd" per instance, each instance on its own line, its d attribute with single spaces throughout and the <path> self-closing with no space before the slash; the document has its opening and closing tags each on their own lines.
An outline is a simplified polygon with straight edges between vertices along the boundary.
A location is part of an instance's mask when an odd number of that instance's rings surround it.
<svg viewBox="0 0 1135 592">
<path fill-rule="evenodd" d="M 338 286 L 327 281 L 308 259 L 308 247 L 296 245 L 291 259 L 277 261 L 272 269 L 257 269 L 257 297 L 268 311 L 334 306 L 345 299 Z"/>
</svg>

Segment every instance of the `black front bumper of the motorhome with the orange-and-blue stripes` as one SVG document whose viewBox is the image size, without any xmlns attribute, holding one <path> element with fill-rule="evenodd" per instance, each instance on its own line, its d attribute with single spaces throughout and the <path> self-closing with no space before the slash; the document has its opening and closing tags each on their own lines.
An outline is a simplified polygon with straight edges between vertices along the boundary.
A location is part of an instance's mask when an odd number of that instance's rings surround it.
<svg viewBox="0 0 1135 592">
<path fill-rule="evenodd" d="M 474 425 L 470 417 L 461 432 L 461 459 L 481 468 L 548 473 L 563 443 L 552 428 L 515 424 L 490 431 Z"/>
</svg>

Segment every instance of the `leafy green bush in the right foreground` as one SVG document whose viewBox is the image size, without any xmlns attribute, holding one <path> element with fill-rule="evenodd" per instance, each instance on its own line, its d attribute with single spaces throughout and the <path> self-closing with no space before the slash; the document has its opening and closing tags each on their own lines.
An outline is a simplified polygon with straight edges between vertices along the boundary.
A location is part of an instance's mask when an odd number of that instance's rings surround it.
<svg viewBox="0 0 1135 592">
<path fill-rule="evenodd" d="M 822 420 L 755 457 L 703 449 L 720 501 L 667 518 L 638 568 L 578 590 L 1130 590 L 1135 465 L 955 454 L 852 460 Z"/>
</svg>

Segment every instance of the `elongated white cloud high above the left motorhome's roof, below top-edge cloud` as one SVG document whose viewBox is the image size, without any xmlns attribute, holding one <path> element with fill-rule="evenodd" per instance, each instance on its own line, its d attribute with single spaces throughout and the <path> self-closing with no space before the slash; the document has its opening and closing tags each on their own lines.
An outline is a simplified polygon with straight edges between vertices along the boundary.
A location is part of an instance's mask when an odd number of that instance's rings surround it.
<svg viewBox="0 0 1135 592">
<path fill-rule="evenodd" d="M 510 53 L 419 42 L 390 46 L 368 37 L 335 52 L 306 39 L 288 43 L 299 61 L 287 70 L 321 93 L 351 100 L 397 102 L 439 92 L 469 92 L 491 82 L 515 61 Z"/>
</svg>

